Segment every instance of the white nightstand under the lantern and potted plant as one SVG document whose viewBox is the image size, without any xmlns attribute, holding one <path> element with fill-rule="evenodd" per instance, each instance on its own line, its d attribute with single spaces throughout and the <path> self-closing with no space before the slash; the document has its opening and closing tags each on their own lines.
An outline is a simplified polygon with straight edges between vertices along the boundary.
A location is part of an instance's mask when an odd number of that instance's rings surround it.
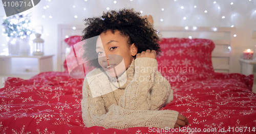
<svg viewBox="0 0 256 134">
<path fill-rule="evenodd" d="M 53 71 L 53 56 L 0 56 L 0 76 L 30 78 L 41 72 Z"/>
</svg>

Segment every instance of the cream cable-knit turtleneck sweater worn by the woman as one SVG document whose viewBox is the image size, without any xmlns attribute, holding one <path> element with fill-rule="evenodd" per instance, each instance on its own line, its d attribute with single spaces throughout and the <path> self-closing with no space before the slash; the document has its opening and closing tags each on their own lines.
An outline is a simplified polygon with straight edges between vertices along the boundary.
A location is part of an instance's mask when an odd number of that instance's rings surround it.
<svg viewBox="0 0 256 134">
<path fill-rule="evenodd" d="M 151 69 L 144 71 L 146 67 Z M 90 87 L 100 90 L 113 85 L 117 87 L 113 92 L 92 96 L 94 91 Z M 87 127 L 174 128 L 179 114 L 172 110 L 159 111 L 173 100 L 173 90 L 157 71 L 157 60 L 153 58 L 133 60 L 118 79 L 109 77 L 102 68 L 95 68 L 84 78 L 82 95 L 82 119 Z"/>
</svg>

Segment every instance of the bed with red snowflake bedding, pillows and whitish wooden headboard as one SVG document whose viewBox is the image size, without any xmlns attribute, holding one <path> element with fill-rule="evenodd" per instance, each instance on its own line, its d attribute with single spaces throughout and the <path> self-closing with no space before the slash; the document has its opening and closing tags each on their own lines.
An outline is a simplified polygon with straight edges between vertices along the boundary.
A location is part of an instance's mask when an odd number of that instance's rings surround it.
<svg viewBox="0 0 256 134">
<path fill-rule="evenodd" d="M 73 27 L 58 26 L 57 72 L 42 72 L 27 80 L 5 79 L 4 88 L 0 89 L 0 133 L 256 131 L 254 76 L 230 73 L 232 67 L 229 65 L 233 61 L 232 50 L 228 49 L 233 43 L 231 28 L 156 27 L 162 34 L 158 70 L 174 90 L 174 100 L 161 110 L 178 111 L 188 118 L 189 125 L 180 129 L 133 127 L 122 130 L 84 126 L 81 117 L 83 78 L 71 77 L 65 62 L 67 46 L 79 41 L 83 29 L 81 25 L 76 25 L 76 30 Z M 67 35 L 69 38 L 65 38 Z"/>
</svg>

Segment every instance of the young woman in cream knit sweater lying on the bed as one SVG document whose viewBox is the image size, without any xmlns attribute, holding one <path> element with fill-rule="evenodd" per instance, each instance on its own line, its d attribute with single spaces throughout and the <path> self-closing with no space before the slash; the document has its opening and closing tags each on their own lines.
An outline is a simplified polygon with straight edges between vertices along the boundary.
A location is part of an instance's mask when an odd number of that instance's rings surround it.
<svg viewBox="0 0 256 134">
<path fill-rule="evenodd" d="M 82 119 L 87 127 L 183 127 L 185 116 L 160 110 L 173 100 L 169 82 L 157 71 L 159 37 L 133 9 L 85 19 L 83 58 L 95 67 L 84 78 Z M 95 59 L 95 60 L 94 60 Z"/>
</svg>

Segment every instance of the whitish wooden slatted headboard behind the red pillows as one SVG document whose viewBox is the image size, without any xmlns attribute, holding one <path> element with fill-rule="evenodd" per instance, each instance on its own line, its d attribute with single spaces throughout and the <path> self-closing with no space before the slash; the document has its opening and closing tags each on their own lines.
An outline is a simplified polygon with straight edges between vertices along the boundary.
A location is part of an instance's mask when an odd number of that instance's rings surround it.
<svg viewBox="0 0 256 134">
<path fill-rule="evenodd" d="M 75 30 L 73 29 L 75 27 Z M 85 25 L 58 25 L 58 53 L 57 53 L 57 71 L 63 70 L 63 62 L 66 59 L 65 36 L 82 35 Z M 155 26 L 155 29 L 162 35 L 161 38 L 203 38 L 211 39 L 215 43 L 215 49 L 212 52 L 212 64 L 215 72 L 233 72 L 233 51 L 232 44 L 235 28 L 212 28 L 212 27 L 181 27 L 181 26 Z M 228 49 L 229 48 L 229 49 Z"/>
</svg>

